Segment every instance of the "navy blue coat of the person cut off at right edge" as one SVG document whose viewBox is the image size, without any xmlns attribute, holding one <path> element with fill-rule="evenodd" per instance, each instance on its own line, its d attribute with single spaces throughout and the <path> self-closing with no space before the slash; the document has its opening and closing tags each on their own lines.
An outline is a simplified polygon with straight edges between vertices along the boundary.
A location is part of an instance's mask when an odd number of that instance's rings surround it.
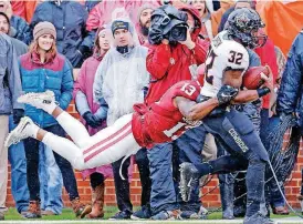
<svg viewBox="0 0 303 224">
<path fill-rule="evenodd" d="M 301 31 L 288 55 L 280 90 L 278 92 L 278 114 L 291 114 L 299 110 L 299 125 L 303 128 L 303 31 Z M 303 129 L 301 131 L 303 133 Z"/>
</svg>

